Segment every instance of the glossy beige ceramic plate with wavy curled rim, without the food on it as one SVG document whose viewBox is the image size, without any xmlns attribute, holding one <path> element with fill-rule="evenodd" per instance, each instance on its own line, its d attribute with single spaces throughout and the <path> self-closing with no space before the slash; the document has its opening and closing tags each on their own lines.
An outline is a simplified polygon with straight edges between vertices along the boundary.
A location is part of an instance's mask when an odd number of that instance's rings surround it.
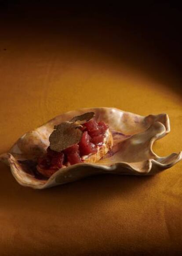
<svg viewBox="0 0 182 256">
<path fill-rule="evenodd" d="M 113 148 L 96 163 L 80 163 L 59 169 L 49 179 L 36 172 L 34 159 L 46 152 L 54 125 L 86 112 L 95 112 L 97 121 L 109 125 Z M 116 108 L 87 108 L 61 114 L 46 124 L 26 133 L 10 152 L 0 155 L 0 161 L 11 167 L 19 184 L 31 188 L 48 188 L 100 174 L 153 175 L 182 159 L 182 152 L 159 157 L 152 150 L 155 140 L 170 132 L 167 114 L 139 116 Z M 36 175 L 37 174 L 37 175 Z"/>
</svg>

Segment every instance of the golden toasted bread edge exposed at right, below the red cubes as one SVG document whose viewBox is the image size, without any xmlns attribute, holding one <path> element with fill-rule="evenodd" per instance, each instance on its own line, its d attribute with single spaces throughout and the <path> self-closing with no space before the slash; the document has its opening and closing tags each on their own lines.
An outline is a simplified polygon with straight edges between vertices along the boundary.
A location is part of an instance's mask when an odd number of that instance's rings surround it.
<svg viewBox="0 0 182 256">
<path fill-rule="evenodd" d="M 95 154 L 91 154 L 88 158 L 84 159 L 85 163 L 95 163 L 98 162 L 107 152 L 113 147 L 113 136 L 111 132 L 106 137 L 105 143 L 103 146 L 98 147 L 98 151 Z"/>
</svg>

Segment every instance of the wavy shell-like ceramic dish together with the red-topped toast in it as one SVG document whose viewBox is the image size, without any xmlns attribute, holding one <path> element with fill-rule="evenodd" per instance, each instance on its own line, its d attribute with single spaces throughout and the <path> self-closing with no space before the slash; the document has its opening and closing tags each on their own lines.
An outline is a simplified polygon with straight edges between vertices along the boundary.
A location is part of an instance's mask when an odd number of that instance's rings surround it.
<svg viewBox="0 0 182 256">
<path fill-rule="evenodd" d="M 170 132 L 169 117 L 140 116 L 116 108 L 62 113 L 21 136 L 0 161 L 19 184 L 44 189 L 108 173 L 154 175 L 182 159 L 160 157 L 153 143 Z"/>
</svg>

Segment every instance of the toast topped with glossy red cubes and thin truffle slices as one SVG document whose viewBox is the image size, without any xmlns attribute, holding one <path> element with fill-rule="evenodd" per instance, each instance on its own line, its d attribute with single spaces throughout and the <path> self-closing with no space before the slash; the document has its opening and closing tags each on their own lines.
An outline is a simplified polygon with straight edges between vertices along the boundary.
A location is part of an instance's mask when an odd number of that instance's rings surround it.
<svg viewBox="0 0 182 256">
<path fill-rule="evenodd" d="M 73 164 L 98 162 L 113 147 L 113 136 L 104 121 L 84 113 L 55 125 L 49 136 L 47 153 L 37 159 L 37 171 L 51 177 L 59 169 Z"/>
</svg>

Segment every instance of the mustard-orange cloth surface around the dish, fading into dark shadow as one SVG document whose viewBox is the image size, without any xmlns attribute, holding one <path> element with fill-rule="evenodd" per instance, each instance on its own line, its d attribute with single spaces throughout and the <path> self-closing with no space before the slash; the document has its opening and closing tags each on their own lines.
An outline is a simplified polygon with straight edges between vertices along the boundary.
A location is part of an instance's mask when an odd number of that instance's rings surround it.
<svg viewBox="0 0 182 256">
<path fill-rule="evenodd" d="M 182 150 L 182 94 L 170 74 L 157 78 L 162 63 L 151 76 L 58 34 L 1 29 L 0 153 L 60 113 L 99 106 L 168 113 L 171 132 L 154 151 Z M 102 175 L 42 191 L 2 163 L 0 173 L 1 256 L 182 252 L 182 162 L 155 177 Z"/>
</svg>

